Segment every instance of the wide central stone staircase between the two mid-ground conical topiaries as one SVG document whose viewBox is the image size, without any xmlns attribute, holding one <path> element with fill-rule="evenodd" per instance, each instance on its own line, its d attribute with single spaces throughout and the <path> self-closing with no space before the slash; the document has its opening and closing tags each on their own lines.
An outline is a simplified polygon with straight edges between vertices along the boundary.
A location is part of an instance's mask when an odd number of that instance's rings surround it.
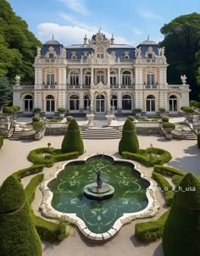
<svg viewBox="0 0 200 256">
<path fill-rule="evenodd" d="M 82 131 L 81 136 L 87 140 L 108 140 L 121 138 L 121 131 L 112 127 L 97 128 L 89 127 L 85 131 Z"/>
</svg>

